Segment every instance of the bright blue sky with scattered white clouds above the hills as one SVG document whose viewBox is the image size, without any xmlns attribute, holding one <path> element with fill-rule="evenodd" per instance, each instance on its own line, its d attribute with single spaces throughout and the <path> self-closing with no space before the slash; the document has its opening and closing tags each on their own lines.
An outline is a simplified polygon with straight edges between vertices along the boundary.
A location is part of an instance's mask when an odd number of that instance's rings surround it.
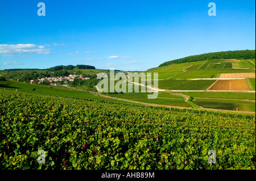
<svg viewBox="0 0 256 181">
<path fill-rule="evenodd" d="M 39 2 L 46 16 L 38 16 Z M 208 15 L 210 2 L 216 16 Z M 243 49 L 255 49 L 255 1 L 0 0 L 0 70 L 77 64 L 147 70 Z"/>
</svg>

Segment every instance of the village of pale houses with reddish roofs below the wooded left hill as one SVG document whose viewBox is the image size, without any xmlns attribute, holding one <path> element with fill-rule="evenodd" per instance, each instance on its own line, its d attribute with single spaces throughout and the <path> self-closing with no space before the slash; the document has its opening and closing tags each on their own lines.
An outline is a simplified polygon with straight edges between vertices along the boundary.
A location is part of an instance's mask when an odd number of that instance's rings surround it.
<svg viewBox="0 0 256 181">
<path fill-rule="evenodd" d="M 79 78 L 79 79 L 82 79 L 82 80 L 88 80 L 88 79 L 90 79 L 89 77 L 82 77 L 82 75 L 73 75 L 73 74 L 70 74 L 70 75 L 65 76 L 65 77 L 45 77 L 45 78 L 38 78 L 38 79 L 37 79 L 37 82 L 38 82 L 38 83 L 43 82 L 43 81 L 52 82 L 51 85 L 57 86 L 57 85 L 60 85 L 60 83 L 53 83 L 53 82 L 64 81 L 64 83 L 67 83 L 67 81 L 74 81 L 74 79 L 75 79 L 76 77 Z M 30 80 L 30 83 L 35 84 L 35 80 Z"/>
</svg>

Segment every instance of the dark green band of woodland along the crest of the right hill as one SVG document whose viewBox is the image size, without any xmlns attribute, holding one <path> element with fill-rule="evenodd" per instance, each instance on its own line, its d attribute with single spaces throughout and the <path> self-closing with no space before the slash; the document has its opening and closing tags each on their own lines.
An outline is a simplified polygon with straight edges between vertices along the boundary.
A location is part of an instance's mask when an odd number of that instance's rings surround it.
<svg viewBox="0 0 256 181">
<path fill-rule="evenodd" d="M 185 62 L 196 62 L 203 60 L 214 60 L 214 59 L 250 59 L 255 58 L 255 50 L 235 50 L 235 51 L 225 51 L 225 52 L 214 52 L 205 53 L 195 56 L 189 56 L 184 58 L 179 58 L 172 61 L 164 62 L 158 67 L 171 65 L 171 64 L 181 64 Z"/>
</svg>

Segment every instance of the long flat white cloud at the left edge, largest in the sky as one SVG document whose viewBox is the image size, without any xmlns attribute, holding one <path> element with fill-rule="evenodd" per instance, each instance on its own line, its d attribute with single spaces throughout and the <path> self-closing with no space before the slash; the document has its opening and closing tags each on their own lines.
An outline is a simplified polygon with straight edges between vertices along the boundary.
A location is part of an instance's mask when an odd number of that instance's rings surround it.
<svg viewBox="0 0 256 181">
<path fill-rule="evenodd" d="M 30 53 L 38 53 L 38 54 L 49 54 L 51 50 L 44 46 L 38 46 L 35 44 L 16 44 L 16 45 L 8 45 L 8 44 L 0 44 L 0 54 L 5 56 L 6 54 L 30 54 Z"/>
</svg>

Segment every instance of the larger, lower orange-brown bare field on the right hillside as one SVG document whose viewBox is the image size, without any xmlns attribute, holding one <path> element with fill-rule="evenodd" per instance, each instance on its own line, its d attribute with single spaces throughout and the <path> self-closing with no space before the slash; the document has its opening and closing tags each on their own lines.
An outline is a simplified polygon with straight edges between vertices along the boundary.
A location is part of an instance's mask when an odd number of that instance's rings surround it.
<svg viewBox="0 0 256 181">
<path fill-rule="evenodd" d="M 226 91 L 249 91 L 249 86 L 245 79 L 242 80 L 218 80 L 209 90 Z"/>
</svg>

